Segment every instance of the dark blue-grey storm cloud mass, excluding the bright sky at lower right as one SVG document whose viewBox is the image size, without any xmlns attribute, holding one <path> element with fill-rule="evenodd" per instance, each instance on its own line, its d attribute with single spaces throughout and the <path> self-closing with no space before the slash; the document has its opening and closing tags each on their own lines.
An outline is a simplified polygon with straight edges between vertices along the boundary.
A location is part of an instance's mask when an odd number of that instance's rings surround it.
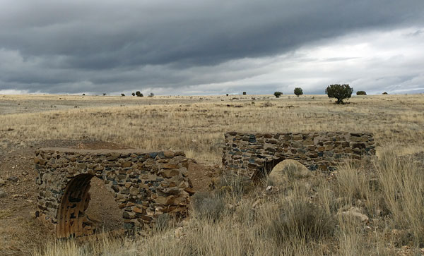
<svg viewBox="0 0 424 256">
<path fill-rule="evenodd" d="M 422 0 L 1 1 L 0 90 L 225 83 L 249 73 L 231 66 L 240 76 L 207 75 L 198 67 L 285 54 L 351 32 L 422 28 L 423 10 Z"/>
</svg>

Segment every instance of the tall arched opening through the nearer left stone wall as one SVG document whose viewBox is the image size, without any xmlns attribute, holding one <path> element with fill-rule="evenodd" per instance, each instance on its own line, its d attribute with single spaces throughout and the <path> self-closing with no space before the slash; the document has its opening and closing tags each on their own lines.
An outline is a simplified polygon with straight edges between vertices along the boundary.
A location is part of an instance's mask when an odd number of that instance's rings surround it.
<svg viewBox="0 0 424 256">
<path fill-rule="evenodd" d="M 66 185 L 57 212 L 57 238 L 88 236 L 123 226 L 122 212 L 112 193 L 101 187 L 100 179 L 93 177 L 80 174 Z M 90 190 L 92 187 L 94 189 Z"/>
</svg>

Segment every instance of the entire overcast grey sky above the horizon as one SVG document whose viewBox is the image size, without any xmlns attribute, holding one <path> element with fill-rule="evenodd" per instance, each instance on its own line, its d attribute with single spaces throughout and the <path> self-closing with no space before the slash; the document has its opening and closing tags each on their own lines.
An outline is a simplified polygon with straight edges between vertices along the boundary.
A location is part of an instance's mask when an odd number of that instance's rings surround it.
<svg viewBox="0 0 424 256">
<path fill-rule="evenodd" d="M 0 0 L 0 94 L 424 92 L 424 0 Z"/>
</svg>

